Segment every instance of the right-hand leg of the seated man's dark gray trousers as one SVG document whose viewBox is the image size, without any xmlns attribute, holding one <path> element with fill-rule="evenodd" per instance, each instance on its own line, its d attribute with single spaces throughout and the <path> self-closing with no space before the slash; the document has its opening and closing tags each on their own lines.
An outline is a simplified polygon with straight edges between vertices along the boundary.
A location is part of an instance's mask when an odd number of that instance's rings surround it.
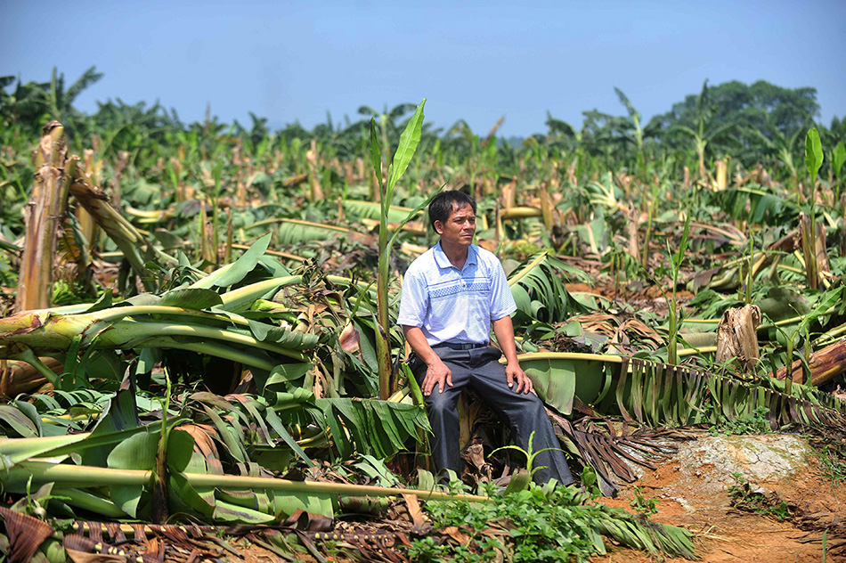
<svg viewBox="0 0 846 563">
<path fill-rule="evenodd" d="M 471 350 L 471 363 L 468 366 L 470 378 L 468 386 L 476 391 L 493 412 L 505 420 L 511 428 L 515 443 L 529 451 L 529 438 L 532 437 L 532 452 L 538 453 L 533 467 L 542 467 L 534 474 L 537 483 L 546 483 L 555 478 L 562 485 L 573 483 L 573 475 L 567 467 L 561 445 L 555 430 L 549 422 L 549 416 L 543 402 L 533 393 L 517 393 L 508 388 L 505 366 L 499 363 L 500 351 L 494 347 Z"/>
</svg>

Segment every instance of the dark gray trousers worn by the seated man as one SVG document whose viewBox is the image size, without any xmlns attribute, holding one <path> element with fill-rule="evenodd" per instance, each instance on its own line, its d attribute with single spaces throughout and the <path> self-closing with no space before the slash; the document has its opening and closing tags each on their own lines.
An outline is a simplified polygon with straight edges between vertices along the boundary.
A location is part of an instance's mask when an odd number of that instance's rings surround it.
<svg viewBox="0 0 846 563">
<path fill-rule="evenodd" d="M 461 474 L 464 466 L 460 455 L 459 413 L 456 408 L 461 390 L 472 389 L 484 404 L 507 423 L 516 445 L 528 450 L 529 437 L 534 432 L 532 450 L 560 448 L 555 431 L 549 422 L 541 399 L 533 393 L 517 393 L 517 381 L 514 388 L 508 388 L 505 366 L 499 363 L 502 353 L 499 348 L 488 346 L 470 350 L 454 350 L 448 347 L 435 347 L 435 354 L 452 371 L 452 387 L 443 386 L 443 393 L 435 387 L 432 394 L 424 396 L 429 423 L 434 437 L 432 457 L 438 469 L 452 469 Z M 426 377 L 426 363 L 416 356 L 409 363 L 411 371 L 420 384 Z M 518 454 L 519 455 L 519 454 Z M 562 485 L 573 483 L 570 468 L 567 467 L 564 453 L 559 449 L 541 452 L 534 458 L 533 467 L 543 467 L 534 474 L 534 480 L 543 484 L 555 478 Z"/>
</svg>

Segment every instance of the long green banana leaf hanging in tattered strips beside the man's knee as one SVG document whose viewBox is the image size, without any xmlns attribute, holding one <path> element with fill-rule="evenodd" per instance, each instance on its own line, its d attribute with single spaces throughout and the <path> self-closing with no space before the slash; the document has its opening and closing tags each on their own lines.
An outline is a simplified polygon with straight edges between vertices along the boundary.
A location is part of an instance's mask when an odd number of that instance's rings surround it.
<svg viewBox="0 0 846 563">
<path fill-rule="evenodd" d="M 539 353 L 519 356 L 547 404 L 558 412 L 620 414 L 652 428 L 748 418 L 769 410 L 772 429 L 791 423 L 836 426 L 846 404 L 818 388 L 768 377 L 704 371 L 616 355 Z"/>
</svg>

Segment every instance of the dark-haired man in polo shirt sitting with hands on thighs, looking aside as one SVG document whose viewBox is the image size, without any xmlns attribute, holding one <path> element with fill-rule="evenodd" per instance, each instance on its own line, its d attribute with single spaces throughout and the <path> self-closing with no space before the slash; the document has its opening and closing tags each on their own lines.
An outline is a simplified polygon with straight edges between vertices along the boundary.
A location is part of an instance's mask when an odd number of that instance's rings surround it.
<svg viewBox="0 0 846 563">
<path fill-rule="evenodd" d="M 532 380 L 517 362 L 510 314 L 517 310 L 500 260 L 473 244 L 476 201 L 463 192 L 442 192 L 429 204 L 429 222 L 441 240 L 420 255 L 403 281 L 400 314 L 405 339 L 414 351 L 409 365 L 420 383 L 435 436 L 432 455 L 438 469 L 460 475 L 461 390 L 476 392 L 508 423 L 517 445 L 538 452 L 533 467 L 538 483 L 555 478 L 573 483 L 555 431 Z M 496 335 L 500 349 L 491 346 Z M 505 354 L 508 364 L 499 363 Z"/>
</svg>

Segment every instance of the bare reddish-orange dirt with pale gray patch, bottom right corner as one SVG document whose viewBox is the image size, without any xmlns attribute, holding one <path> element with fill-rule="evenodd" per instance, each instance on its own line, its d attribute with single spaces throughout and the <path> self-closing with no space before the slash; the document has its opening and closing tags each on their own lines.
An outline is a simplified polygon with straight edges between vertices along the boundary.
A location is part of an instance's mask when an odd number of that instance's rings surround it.
<svg viewBox="0 0 846 563">
<path fill-rule="evenodd" d="M 791 515 L 776 517 L 736 510 L 728 486 L 739 473 L 752 490 L 774 502 L 785 502 Z M 822 529 L 829 527 L 827 561 L 846 561 L 846 484 L 823 477 L 817 458 L 801 437 L 703 437 L 682 445 L 679 454 L 647 470 L 609 505 L 632 510 L 639 486 L 644 498 L 655 498 L 656 522 L 684 526 L 696 534 L 704 561 L 728 563 L 823 561 Z M 610 547 L 594 563 L 677 563 L 639 551 Z"/>
</svg>

